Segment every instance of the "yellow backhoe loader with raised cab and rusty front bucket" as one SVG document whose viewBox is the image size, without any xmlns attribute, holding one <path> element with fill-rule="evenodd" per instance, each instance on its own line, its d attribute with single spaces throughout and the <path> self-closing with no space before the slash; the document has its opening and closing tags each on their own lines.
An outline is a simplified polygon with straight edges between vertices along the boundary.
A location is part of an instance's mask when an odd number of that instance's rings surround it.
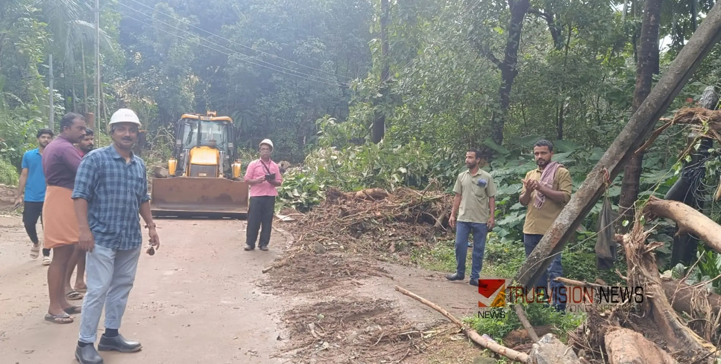
<svg viewBox="0 0 721 364">
<path fill-rule="evenodd" d="M 167 178 L 152 179 L 153 216 L 246 218 L 248 185 L 240 176 L 230 117 L 183 114 Z"/>
</svg>

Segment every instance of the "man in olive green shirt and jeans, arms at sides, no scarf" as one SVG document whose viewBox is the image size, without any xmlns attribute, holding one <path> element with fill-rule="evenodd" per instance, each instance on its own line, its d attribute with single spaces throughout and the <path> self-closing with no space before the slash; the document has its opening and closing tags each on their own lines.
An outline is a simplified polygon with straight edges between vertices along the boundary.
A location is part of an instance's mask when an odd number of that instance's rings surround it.
<svg viewBox="0 0 721 364">
<path fill-rule="evenodd" d="M 456 194 L 448 223 L 456 227 L 456 272 L 446 275 L 448 280 L 466 278 L 466 254 L 468 254 L 468 236 L 473 231 L 473 253 L 471 262 L 470 285 L 478 285 L 483 267 L 483 253 L 486 247 L 486 234 L 495 225 L 495 194 L 493 178 L 480 169 L 480 151 L 471 148 L 466 153 L 468 170 L 458 175 L 453 192 Z M 456 211 L 458 221 L 456 223 Z"/>
</svg>

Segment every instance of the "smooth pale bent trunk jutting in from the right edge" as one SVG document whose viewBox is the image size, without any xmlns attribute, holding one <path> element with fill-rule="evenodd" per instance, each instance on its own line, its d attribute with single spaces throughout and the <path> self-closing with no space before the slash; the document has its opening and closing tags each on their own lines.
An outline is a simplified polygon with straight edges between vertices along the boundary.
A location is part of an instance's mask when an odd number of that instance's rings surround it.
<svg viewBox="0 0 721 364">
<path fill-rule="evenodd" d="M 676 221 L 678 234 L 694 234 L 721 253 L 721 226 L 691 206 L 651 196 L 644 212 Z"/>
</svg>

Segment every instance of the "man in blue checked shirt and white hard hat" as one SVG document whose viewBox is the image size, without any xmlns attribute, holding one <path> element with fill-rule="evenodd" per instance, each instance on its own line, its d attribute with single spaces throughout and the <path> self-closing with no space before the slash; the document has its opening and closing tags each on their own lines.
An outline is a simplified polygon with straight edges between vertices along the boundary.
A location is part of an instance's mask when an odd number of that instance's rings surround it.
<svg viewBox="0 0 721 364">
<path fill-rule="evenodd" d="M 120 109 L 108 126 L 112 144 L 84 156 L 72 195 L 80 226 L 78 247 L 87 252 L 87 294 L 75 350 L 81 364 L 103 362 L 94 347 L 103 306 L 105 333 L 98 350 L 141 350 L 140 342 L 118 332 L 143 245 L 138 214 L 149 229 L 151 246 L 160 247 L 150 213 L 145 163 L 131 151 L 141 126 L 138 115 Z"/>
</svg>

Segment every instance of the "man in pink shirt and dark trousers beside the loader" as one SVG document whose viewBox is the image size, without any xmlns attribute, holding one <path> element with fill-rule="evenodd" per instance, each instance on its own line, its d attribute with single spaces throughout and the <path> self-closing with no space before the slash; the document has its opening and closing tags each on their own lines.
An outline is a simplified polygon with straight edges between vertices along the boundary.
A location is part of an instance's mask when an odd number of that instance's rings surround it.
<svg viewBox="0 0 721 364">
<path fill-rule="evenodd" d="M 270 160 L 272 152 L 273 142 L 270 139 L 261 141 L 260 159 L 250 162 L 245 172 L 245 182 L 250 185 L 245 250 L 255 249 L 258 230 L 260 230 L 260 241 L 258 241 L 260 250 L 267 250 L 268 243 L 270 243 L 270 230 L 275 213 L 275 196 L 278 196 L 276 187 L 283 182 L 278 164 Z"/>
</svg>

